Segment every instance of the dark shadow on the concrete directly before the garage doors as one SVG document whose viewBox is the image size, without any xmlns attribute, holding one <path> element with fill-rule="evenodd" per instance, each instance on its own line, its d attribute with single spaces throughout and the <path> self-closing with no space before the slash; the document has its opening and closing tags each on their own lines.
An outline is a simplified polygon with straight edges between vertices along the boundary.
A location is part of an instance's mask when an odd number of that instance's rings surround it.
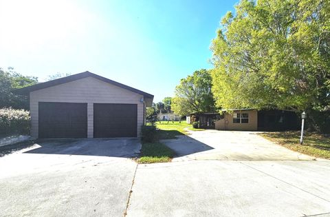
<svg viewBox="0 0 330 217">
<path fill-rule="evenodd" d="M 36 141 L 35 145 L 36 148 L 24 153 L 133 158 L 140 154 L 141 149 L 139 138 L 43 139 Z"/>
</svg>

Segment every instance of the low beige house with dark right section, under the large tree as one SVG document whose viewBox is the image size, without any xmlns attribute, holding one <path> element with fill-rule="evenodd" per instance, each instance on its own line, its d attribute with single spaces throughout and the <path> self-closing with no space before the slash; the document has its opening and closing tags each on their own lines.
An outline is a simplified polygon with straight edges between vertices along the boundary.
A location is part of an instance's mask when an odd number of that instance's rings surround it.
<svg viewBox="0 0 330 217">
<path fill-rule="evenodd" d="M 241 109 L 223 110 L 223 116 L 215 121 L 217 130 L 298 130 L 299 118 L 295 112 L 286 110 Z"/>
</svg>

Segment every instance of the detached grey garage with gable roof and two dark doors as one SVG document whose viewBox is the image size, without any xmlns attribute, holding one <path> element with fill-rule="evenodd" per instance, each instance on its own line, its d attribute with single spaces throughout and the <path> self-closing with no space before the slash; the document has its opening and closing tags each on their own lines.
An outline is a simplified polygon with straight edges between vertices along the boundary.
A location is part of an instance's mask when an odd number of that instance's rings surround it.
<svg viewBox="0 0 330 217">
<path fill-rule="evenodd" d="M 30 99 L 34 138 L 140 136 L 153 95 L 82 72 L 15 90 Z"/>
</svg>

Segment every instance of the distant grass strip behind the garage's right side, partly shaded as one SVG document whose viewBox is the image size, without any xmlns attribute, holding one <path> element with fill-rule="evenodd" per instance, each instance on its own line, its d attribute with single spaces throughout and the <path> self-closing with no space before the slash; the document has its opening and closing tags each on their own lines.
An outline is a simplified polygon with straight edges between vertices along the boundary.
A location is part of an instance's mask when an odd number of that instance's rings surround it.
<svg viewBox="0 0 330 217">
<path fill-rule="evenodd" d="M 192 125 L 186 123 L 186 121 L 157 121 L 156 127 L 159 129 L 159 138 L 160 139 L 168 139 L 168 138 L 175 138 L 175 136 L 188 134 L 189 132 L 184 130 L 185 128 L 188 128 L 189 130 L 193 131 L 201 131 L 204 129 L 195 129 L 192 127 Z"/>
</svg>

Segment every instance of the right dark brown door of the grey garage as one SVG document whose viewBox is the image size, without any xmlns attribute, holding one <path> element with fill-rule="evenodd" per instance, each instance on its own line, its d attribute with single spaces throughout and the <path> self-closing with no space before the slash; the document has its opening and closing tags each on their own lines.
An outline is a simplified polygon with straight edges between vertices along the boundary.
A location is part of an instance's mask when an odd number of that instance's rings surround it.
<svg viewBox="0 0 330 217">
<path fill-rule="evenodd" d="M 137 105 L 94 103 L 94 137 L 136 137 Z"/>
</svg>

